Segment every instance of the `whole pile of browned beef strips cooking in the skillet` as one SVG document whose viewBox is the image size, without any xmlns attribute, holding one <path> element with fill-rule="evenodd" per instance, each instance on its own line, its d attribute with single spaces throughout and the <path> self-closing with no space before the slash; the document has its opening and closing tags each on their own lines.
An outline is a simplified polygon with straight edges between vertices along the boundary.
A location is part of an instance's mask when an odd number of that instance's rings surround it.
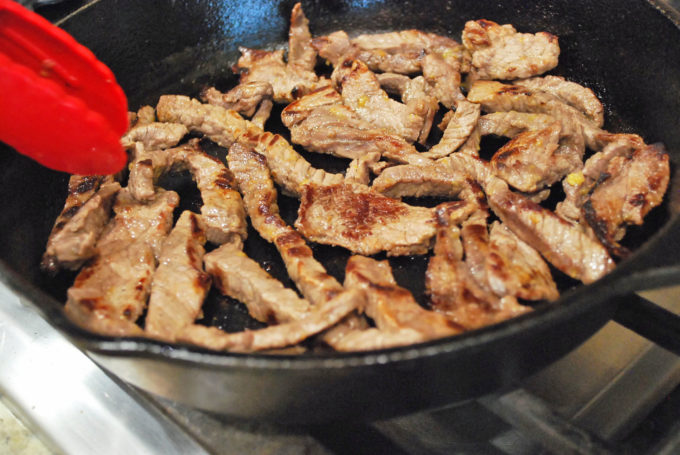
<svg viewBox="0 0 680 455">
<path fill-rule="evenodd" d="M 310 337 L 368 350 L 456 335 L 555 300 L 548 263 L 583 283 L 605 275 L 627 253 L 626 228 L 662 200 L 664 148 L 602 130 L 591 90 L 540 76 L 558 63 L 557 37 L 477 20 L 462 42 L 418 30 L 312 38 L 298 4 L 286 60 L 284 50 L 242 48 L 229 92 L 164 95 L 131 113 L 122 139 L 129 175 L 72 176 L 48 241 L 45 270 L 80 269 L 69 318 L 101 334 L 217 350 L 276 350 Z M 318 57 L 330 76 L 315 73 Z M 265 130 L 274 103 L 286 105 L 290 141 Z M 427 148 L 439 110 L 443 134 Z M 479 156 L 486 135 L 507 138 L 490 160 Z M 199 137 L 223 148 L 227 166 Z M 312 167 L 291 142 L 345 158 L 346 172 Z M 177 218 L 178 194 L 158 186 L 175 171 L 196 182 L 200 214 Z M 555 210 L 540 205 L 559 185 Z M 279 215 L 277 190 L 300 199 L 294 226 Z M 425 196 L 439 205 L 401 200 Z M 243 252 L 247 219 L 276 246 L 299 293 Z M 344 283 L 308 241 L 353 253 Z M 431 254 L 428 309 L 378 253 Z M 267 327 L 197 324 L 211 286 Z"/>
</svg>

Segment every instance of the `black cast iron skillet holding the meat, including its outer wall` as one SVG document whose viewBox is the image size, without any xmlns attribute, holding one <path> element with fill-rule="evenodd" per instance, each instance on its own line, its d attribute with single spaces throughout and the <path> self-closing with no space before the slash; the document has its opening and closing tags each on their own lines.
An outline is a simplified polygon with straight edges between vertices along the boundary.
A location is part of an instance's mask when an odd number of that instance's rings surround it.
<svg viewBox="0 0 680 455">
<path fill-rule="evenodd" d="M 0 153 L 0 186 L 5 191 L 0 279 L 119 377 L 203 409 L 285 423 L 387 417 L 479 396 L 510 387 L 558 359 L 615 314 L 639 322 L 639 312 L 647 308 L 658 316 L 657 308 L 649 309 L 630 292 L 680 282 L 680 182 L 674 172 L 680 160 L 678 16 L 665 12 L 662 2 L 527 3 L 336 0 L 303 6 L 315 35 L 338 29 L 352 34 L 419 28 L 458 39 L 465 21 L 479 18 L 558 35 L 562 55 L 553 73 L 600 95 L 607 106 L 607 129 L 638 132 L 648 143 L 663 142 L 672 157 L 666 203 L 649 215 L 645 228 L 632 230 L 627 242 L 636 253 L 604 279 L 589 286 L 561 280 L 565 290 L 559 302 L 538 305 L 531 314 L 462 336 L 379 352 L 241 355 L 102 337 L 73 326 L 61 312 L 73 277 L 50 279 L 38 269 L 68 176 L 9 150 Z M 155 104 L 163 93 L 196 94 L 208 83 L 227 88 L 234 82 L 230 66 L 238 56 L 237 46 L 282 45 L 292 5 L 271 0 L 101 0 L 60 25 L 111 67 L 136 109 Z M 315 165 L 337 165 L 310 159 Z M 176 176 L 167 184 L 191 193 L 184 188 L 185 180 Z M 282 205 L 290 221 L 295 203 L 284 200 Z M 274 275 L 283 276 L 275 250 L 254 233 L 247 251 Z M 316 247 L 315 254 L 341 277 L 346 253 Z M 426 259 L 392 263 L 400 283 L 422 295 Z M 660 328 L 666 332 L 655 336 L 677 350 L 677 318 L 657 319 L 664 321 Z M 203 322 L 229 330 L 254 327 L 242 307 L 214 296 Z"/>
</svg>

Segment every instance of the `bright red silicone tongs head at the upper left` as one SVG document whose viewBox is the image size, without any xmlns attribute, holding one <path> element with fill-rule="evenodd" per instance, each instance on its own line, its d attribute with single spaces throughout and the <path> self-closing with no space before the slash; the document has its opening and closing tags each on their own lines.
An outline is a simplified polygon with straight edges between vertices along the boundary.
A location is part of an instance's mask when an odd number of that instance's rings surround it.
<svg viewBox="0 0 680 455">
<path fill-rule="evenodd" d="M 59 171 L 120 171 L 127 99 L 109 68 L 64 30 L 0 0 L 0 141 Z"/>
</svg>

